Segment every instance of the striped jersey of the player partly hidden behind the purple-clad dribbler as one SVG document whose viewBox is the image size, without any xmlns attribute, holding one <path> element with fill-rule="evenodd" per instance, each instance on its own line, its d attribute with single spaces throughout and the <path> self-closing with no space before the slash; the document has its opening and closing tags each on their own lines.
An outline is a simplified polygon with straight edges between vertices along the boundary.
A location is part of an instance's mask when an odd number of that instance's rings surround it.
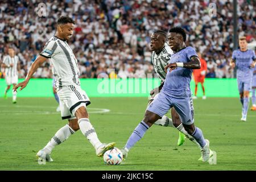
<svg viewBox="0 0 256 182">
<path fill-rule="evenodd" d="M 173 53 L 174 52 L 167 43 L 164 44 L 164 48 L 159 54 L 156 54 L 155 51 L 152 52 L 152 64 L 154 66 L 155 72 L 158 74 L 158 77 L 162 81 L 166 79 L 166 72 L 164 72 L 164 67 L 166 67 Z"/>
</svg>

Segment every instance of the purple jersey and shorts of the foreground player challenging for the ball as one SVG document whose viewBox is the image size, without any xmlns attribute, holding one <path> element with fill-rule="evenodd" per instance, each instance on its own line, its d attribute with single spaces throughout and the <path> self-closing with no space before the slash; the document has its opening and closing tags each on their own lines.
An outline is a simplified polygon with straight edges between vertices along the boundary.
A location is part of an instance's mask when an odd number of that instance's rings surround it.
<svg viewBox="0 0 256 182">
<path fill-rule="evenodd" d="M 174 53 L 169 63 L 191 61 L 192 56 L 197 56 L 195 49 L 186 47 Z M 148 111 L 163 117 L 171 107 L 175 107 L 180 115 L 181 122 L 191 125 L 194 122 L 193 101 L 191 98 L 190 82 L 192 69 L 177 68 L 167 72 L 164 86 L 158 97 L 147 107 Z"/>
</svg>

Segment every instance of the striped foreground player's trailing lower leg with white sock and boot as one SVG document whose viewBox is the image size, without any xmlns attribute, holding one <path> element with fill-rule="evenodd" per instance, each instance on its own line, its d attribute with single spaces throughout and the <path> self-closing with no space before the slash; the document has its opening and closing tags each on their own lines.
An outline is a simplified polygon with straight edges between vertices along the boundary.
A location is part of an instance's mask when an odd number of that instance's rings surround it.
<svg viewBox="0 0 256 182">
<path fill-rule="evenodd" d="M 53 148 L 61 143 L 63 143 L 65 140 L 68 139 L 68 137 L 72 134 L 75 133 L 75 130 L 72 129 L 72 120 L 69 121 L 69 125 L 65 125 L 63 127 L 61 127 L 61 129 L 59 129 L 57 131 L 57 133 L 51 138 L 51 140 L 49 140 L 49 142 L 46 144 L 46 146 L 40 150 L 38 152 L 38 154 L 36 154 L 36 156 L 38 156 L 38 158 L 43 159 L 47 162 L 52 162 L 52 158 L 50 156 Z M 79 128 L 77 129 L 79 130 Z"/>
</svg>

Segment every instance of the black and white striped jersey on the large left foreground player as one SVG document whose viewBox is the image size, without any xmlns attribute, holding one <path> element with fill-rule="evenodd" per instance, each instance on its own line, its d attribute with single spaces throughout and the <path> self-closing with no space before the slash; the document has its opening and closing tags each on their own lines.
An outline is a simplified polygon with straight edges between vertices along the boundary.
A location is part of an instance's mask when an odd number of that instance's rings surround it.
<svg viewBox="0 0 256 182">
<path fill-rule="evenodd" d="M 40 55 L 47 57 L 52 64 L 52 73 L 56 78 L 56 88 L 80 85 L 77 59 L 65 40 L 52 36 Z"/>
</svg>

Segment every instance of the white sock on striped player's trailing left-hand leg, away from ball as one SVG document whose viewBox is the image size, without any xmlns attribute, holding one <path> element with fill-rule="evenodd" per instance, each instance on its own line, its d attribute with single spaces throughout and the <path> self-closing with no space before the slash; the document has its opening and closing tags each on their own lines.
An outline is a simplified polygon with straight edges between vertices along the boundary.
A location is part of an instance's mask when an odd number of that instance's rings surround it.
<svg viewBox="0 0 256 182">
<path fill-rule="evenodd" d="M 46 154 L 51 154 L 53 148 L 57 146 L 58 144 L 64 142 L 68 139 L 68 137 L 72 134 L 74 134 L 76 131 L 74 131 L 71 127 L 68 125 L 65 125 L 61 127 L 57 131 L 57 133 L 52 137 L 52 139 L 47 143 L 47 145 L 43 148 L 44 151 L 46 151 Z"/>
</svg>

